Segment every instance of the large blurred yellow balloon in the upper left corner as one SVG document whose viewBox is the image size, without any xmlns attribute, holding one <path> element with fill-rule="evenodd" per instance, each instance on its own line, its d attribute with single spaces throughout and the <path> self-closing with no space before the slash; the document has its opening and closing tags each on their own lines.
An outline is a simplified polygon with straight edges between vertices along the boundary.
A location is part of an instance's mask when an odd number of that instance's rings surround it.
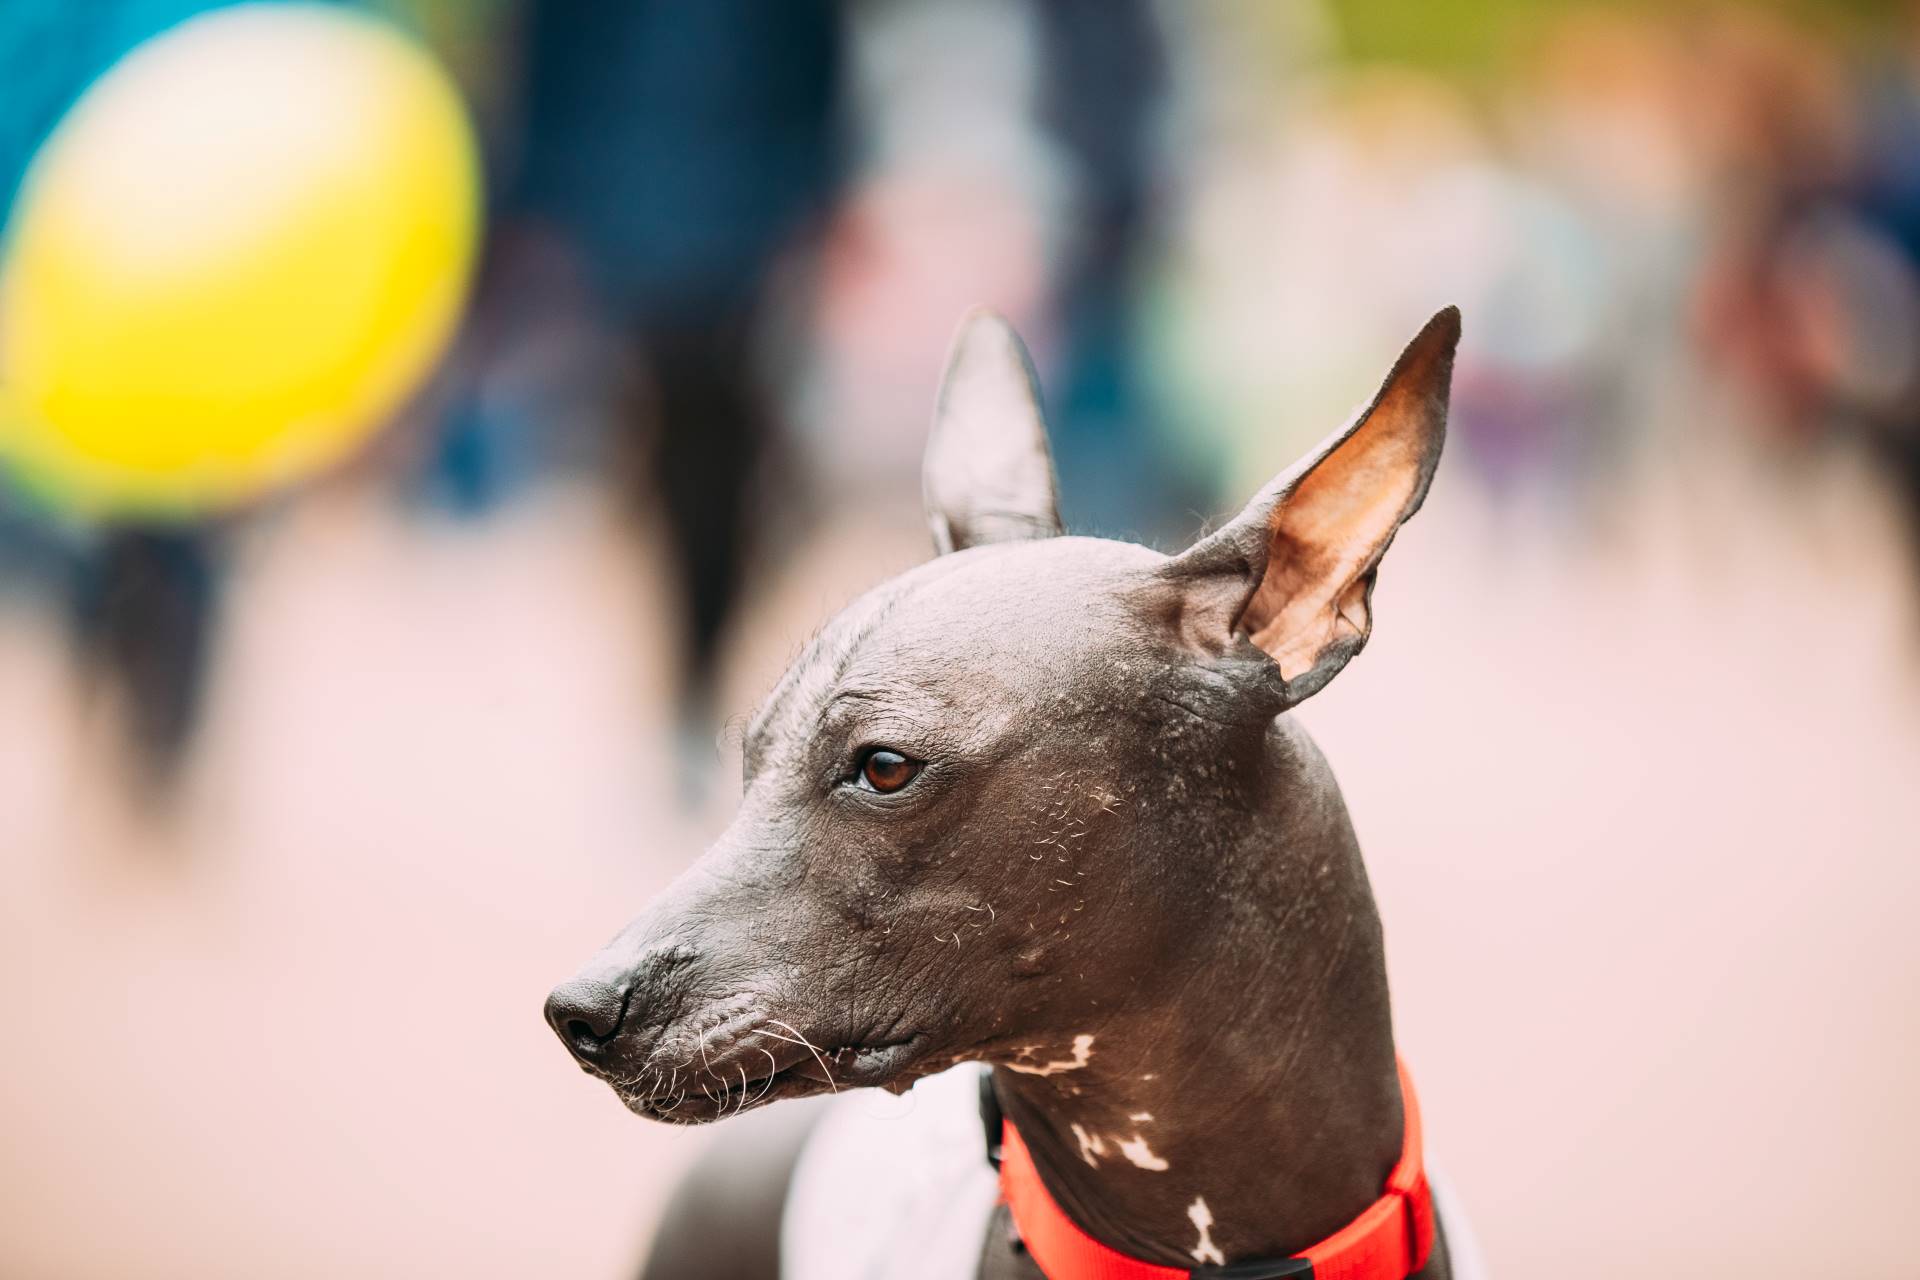
<svg viewBox="0 0 1920 1280">
<path fill-rule="evenodd" d="M 86 512 L 190 516 L 338 462 L 467 296 L 478 161 L 394 29 L 253 4 L 123 58 L 35 157 L 0 265 L 0 455 Z"/>
</svg>

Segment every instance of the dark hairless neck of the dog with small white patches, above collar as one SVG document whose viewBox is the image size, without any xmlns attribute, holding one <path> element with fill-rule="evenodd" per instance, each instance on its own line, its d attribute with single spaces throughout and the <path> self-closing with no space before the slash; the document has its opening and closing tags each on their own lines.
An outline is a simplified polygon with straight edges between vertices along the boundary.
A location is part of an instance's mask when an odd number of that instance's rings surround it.
<svg viewBox="0 0 1920 1280">
<path fill-rule="evenodd" d="M 1066 1036 L 1037 1067 L 995 1071 L 1054 1201 L 1142 1261 L 1298 1253 L 1373 1203 L 1400 1155 L 1380 925 L 1359 850 L 1304 733 L 1283 722 L 1269 754 L 1321 794 L 1302 804 L 1298 789 L 1277 789 L 1284 812 L 1204 850 L 1221 867 L 1221 915 L 1188 981 Z"/>
</svg>

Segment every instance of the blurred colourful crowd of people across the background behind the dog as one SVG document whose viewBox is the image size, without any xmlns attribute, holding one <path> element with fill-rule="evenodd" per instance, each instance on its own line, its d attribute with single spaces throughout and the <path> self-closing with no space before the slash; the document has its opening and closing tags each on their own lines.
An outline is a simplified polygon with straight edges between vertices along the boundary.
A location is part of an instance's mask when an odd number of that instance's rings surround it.
<svg viewBox="0 0 1920 1280">
<path fill-rule="evenodd" d="M 0 200 L 194 0 L 0 12 Z M 353 472 L 484 518 L 612 486 L 670 549 L 684 716 L 743 574 L 902 491 L 945 340 L 989 303 L 1048 390 L 1069 526 L 1173 543 L 1336 426 L 1442 303 L 1453 466 L 1578 524 L 1676 451 L 1870 453 L 1920 530 L 1920 13 L 1150 0 L 392 0 L 482 129 L 461 338 Z M 1428 15 L 1432 17 L 1432 15 Z M 1453 33 L 1459 42 L 1459 33 Z M 290 501 L 298 501 L 294 495 Z M 242 512 L 0 507 L 0 572 L 188 745 Z"/>
</svg>

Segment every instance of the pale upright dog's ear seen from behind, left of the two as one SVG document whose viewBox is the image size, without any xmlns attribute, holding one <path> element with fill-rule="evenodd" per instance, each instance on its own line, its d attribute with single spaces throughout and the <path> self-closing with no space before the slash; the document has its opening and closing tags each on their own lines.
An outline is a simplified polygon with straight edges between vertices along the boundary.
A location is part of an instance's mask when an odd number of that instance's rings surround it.
<svg viewBox="0 0 1920 1280">
<path fill-rule="evenodd" d="M 941 555 L 1060 533 L 1041 386 L 1020 334 L 993 311 L 960 322 L 922 486 Z"/>
</svg>

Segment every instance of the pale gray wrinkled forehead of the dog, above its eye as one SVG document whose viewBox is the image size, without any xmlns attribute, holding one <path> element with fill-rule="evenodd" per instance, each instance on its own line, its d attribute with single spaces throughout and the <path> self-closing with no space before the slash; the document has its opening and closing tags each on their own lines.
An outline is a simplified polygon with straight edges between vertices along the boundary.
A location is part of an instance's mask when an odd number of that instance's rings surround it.
<svg viewBox="0 0 1920 1280">
<path fill-rule="evenodd" d="M 747 760 L 812 735 L 837 693 L 966 700 L 983 683 L 1020 685 L 1123 643 L 1129 587 L 1164 557 L 1133 543 L 1050 537 L 945 555 L 835 614 L 747 725 Z"/>
</svg>

